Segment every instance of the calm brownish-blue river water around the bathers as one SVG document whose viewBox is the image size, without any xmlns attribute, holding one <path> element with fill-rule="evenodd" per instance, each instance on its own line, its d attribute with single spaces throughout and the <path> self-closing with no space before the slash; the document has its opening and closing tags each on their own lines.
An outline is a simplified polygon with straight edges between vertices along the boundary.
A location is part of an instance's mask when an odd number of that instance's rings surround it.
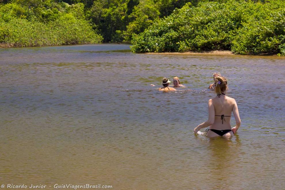
<svg viewBox="0 0 285 190">
<path fill-rule="evenodd" d="M 231 139 L 193 134 L 208 118 L 214 72 L 239 107 Z M 284 73 L 277 56 L 134 54 L 125 44 L 0 49 L 0 183 L 284 189 Z M 174 76 L 186 88 L 158 92 Z"/>
</svg>

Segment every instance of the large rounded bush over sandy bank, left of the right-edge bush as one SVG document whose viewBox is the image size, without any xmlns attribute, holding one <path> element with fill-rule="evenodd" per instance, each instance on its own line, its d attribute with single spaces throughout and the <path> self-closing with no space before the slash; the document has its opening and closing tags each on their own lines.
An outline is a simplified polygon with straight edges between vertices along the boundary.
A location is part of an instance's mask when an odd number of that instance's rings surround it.
<svg viewBox="0 0 285 190">
<path fill-rule="evenodd" d="M 224 3 L 199 3 L 197 7 L 187 3 L 134 37 L 132 51 L 184 52 L 228 49 L 230 36 L 239 27 L 239 23 L 239 18 L 232 16 L 229 7 Z M 147 42 L 147 47 L 141 50 L 137 45 L 142 41 Z"/>
</svg>

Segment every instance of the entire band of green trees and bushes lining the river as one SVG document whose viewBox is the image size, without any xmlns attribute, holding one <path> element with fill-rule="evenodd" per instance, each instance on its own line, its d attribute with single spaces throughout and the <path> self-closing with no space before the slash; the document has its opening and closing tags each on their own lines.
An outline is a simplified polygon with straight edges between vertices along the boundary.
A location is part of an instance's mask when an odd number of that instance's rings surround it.
<svg viewBox="0 0 285 190">
<path fill-rule="evenodd" d="M 285 55 L 282 0 L 0 0 L 0 46 L 132 42 L 133 52 Z"/>
</svg>

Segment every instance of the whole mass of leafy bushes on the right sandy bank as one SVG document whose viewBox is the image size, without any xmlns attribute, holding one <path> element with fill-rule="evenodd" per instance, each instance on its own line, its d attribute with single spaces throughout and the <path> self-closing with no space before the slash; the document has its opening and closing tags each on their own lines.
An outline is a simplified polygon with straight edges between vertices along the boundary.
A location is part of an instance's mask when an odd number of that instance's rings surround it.
<svg viewBox="0 0 285 190">
<path fill-rule="evenodd" d="M 133 52 L 231 50 L 285 54 L 285 3 L 230 0 L 187 3 L 133 38 Z"/>
</svg>

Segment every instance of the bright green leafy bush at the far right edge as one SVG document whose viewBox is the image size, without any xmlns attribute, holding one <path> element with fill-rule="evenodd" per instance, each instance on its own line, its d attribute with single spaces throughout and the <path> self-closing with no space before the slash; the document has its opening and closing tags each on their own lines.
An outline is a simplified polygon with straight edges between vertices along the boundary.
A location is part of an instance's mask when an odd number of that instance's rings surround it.
<svg viewBox="0 0 285 190">
<path fill-rule="evenodd" d="M 254 10 L 255 9 L 255 10 Z M 238 54 L 280 53 L 285 55 L 285 7 L 281 1 L 251 5 L 253 14 L 233 37 L 231 50 Z"/>
</svg>

